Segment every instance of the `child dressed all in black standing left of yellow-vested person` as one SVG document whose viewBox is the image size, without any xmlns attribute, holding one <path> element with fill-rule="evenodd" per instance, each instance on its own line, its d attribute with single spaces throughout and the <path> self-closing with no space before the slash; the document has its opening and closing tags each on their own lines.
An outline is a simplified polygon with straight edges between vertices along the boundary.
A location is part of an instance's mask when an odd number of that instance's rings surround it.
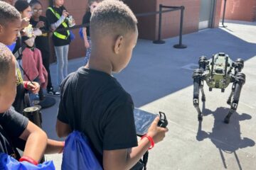
<svg viewBox="0 0 256 170">
<path fill-rule="evenodd" d="M 50 47 L 49 47 L 49 24 L 45 16 L 42 16 L 43 6 L 40 1 L 32 0 L 30 3 L 32 8 L 31 24 L 33 28 L 39 28 L 43 34 L 36 37 L 36 47 L 41 51 L 43 66 L 48 72 L 47 93 L 51 96 L 60 96 L 60 92 L 53 90 L 53 84 L 50 78 Z"/>
</svg>

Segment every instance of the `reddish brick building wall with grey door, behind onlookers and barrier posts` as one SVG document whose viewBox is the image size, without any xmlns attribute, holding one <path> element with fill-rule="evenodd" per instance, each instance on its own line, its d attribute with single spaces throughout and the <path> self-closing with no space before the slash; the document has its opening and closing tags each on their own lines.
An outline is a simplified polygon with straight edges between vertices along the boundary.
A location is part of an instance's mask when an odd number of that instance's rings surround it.
<svg viewBox="0 0 256 170">
<path fill-rule="evenodd" d="M 197 32 L 205 28 L 218 27 L 221 4 L 223 0 L 124 0 L 135 14 L 159 11 L 159 5 L 184 6 L 183 34 Z M 41 0 L 43 7 L 48 1 Z M 82 16 L 87 9 L 87 0 L 65 0 L 65 7 L 75 18 L 76 24 L 82 23 Z M 165 10 L 165 9 L 164 9 Z M 163 13 L 161 38 L 171 38 L 179 33 L 181 11 Z M 138 17 L 139 38 L 157 40 L 159 31 L 159 15 Z M 85 47 L 79 36 L 79 30 L 73 30 L 75 40 L 70 44 L 69 59 L 85 56 Z M 54 52 L 52 47 L 52 59 Z"/>
</svg>

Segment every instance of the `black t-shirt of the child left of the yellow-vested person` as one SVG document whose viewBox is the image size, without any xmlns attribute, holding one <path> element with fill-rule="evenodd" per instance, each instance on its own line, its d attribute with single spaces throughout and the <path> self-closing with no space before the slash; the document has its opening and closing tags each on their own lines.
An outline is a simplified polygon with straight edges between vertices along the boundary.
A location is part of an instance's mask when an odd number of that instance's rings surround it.
<svg viewBox="0 0 256 170">
<path fill-rule="evenodd" d="M 46 17 L 44 16 L 40 16 L 39 17 L 39 21 L 43 21 L 44 23 L 44 27 L 40 28 L 40 30 L 43 32 L 42 35 L 40 36 L 37 36 L 36 37 L 36 47 L 39 49 L 39 50 L 44 50 L 44 51 L 47 51 L 49 52 L 50 51 L 50 47 L 49 47 L 49 41 L 48 41 L 48 31 L 49 31 L 49 23 L 46 19 Z M 33 26 L 33 28 L 36 28 L 36 24 L 39 22 L 39 21 L 35 21 L 33 20 L 33 18 L 31 18 L 31 24 Z"/>
</svg>

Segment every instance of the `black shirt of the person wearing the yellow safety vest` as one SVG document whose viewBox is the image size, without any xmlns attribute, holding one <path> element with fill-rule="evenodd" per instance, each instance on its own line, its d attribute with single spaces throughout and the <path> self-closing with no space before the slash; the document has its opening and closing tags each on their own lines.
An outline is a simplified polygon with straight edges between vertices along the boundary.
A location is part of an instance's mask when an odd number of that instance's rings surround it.
<svg viewBox="0 0 256 170">
<path fill-rule="evenodd" d="M 65 10 L 65 7 L 64 6 L 60 6 L 60 8 L 56 8 L 56 7 L 53 7 L 53 10 L 58 13 L 60 16 L 62 16 L 62 13 L 63 13 L 63 10 Z M 49 24 L 53 24 L 55 22 L 57 22 L 59 19 L 54 15 L 54 13 L 52 11 L 50 11 L 50 9 L 47 9 L 46 10 L 46 18 L 48 20 L 48 23 Z M 68 26 L 68 22 L 65 20 L 64 21 L 67 26 Z M 62 24 L 60 24 L 60 26 L 58 26 L 57 29 L 59 28 L 64 28 L 64 26 Z M 57 33 L 60 33 L 62 35 L 66 35 L 68 36 L 68 32 L 66 30 L 63 30 L 63 31 L 57 31 Z M 57 38 L 55 35 L 53 35 L 53 44 L 55 46 L 63 46 L 63 45 L 69 45 L 70 44 L 70 36 L 68 36 L 68 39 L 67 40 L 63 40 L 63 39 L 60 39 L 60 38 Z"/>
</svg>

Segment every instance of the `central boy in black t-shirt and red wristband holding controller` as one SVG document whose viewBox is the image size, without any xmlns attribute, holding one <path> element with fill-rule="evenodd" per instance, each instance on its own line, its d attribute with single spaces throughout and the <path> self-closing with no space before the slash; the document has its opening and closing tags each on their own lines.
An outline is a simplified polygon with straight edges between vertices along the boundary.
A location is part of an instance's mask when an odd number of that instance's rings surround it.
<svg viewBox="0 0 256 170">
<path fill-rule="evenodd" d="M 73 130 L 83 132 L 103 169 L 131 169 L 167 132 L 157 127 L 156 118 L 137 142 L 132 97 L 112 77 L 132 57 L 137 18 L 122 1 L 102 1 L 92 13 L 90 36 L 88 64 L 70 74 L 61 86 L 56 132 L 59 137 Z"/>
</svg>

